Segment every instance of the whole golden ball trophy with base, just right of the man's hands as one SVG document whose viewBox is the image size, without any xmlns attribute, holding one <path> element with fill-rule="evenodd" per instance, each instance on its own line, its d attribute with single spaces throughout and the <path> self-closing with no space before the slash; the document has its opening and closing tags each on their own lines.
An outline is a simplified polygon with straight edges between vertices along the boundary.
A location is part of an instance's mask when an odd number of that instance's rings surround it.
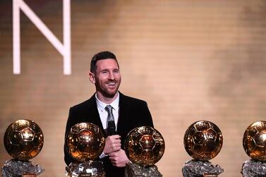
<svg viewBox="0 0 266 177">
<path fill-rule="evenodd" d="M 164 138 L 150 126 L 134 128 L 128 133 L 124 149 L 128 159 L 125 177 L 162 177 L 155 163 L 164 154 Z"/>
</svg>

